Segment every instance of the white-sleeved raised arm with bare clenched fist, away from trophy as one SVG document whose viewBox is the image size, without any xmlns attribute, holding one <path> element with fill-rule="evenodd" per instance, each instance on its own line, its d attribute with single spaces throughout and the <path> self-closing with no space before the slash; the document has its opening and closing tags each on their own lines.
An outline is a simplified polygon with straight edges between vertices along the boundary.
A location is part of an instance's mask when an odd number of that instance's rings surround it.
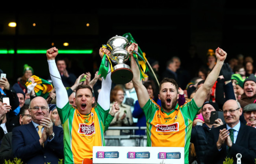
<svg viewBox="0 0 256 164">
<path fill-rule="evenodd" d="M 58 68 L 55 63 L 55 58 L 57 55 L 58 49 L 56 47 L 53 47 L 46 51 L 52 83 L 56 90 L 56 106 L 58 106 L 58 108 L 63 108 L 69 102 L 69 98 L 67 95 L 67 91 L 63 86 Z"/>
</svg>

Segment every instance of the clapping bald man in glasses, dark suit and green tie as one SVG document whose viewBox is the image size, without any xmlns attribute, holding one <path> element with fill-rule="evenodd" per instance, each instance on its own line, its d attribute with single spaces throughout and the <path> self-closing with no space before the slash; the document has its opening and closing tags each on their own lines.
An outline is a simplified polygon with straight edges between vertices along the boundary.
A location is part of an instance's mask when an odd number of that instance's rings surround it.
<svg viewBox="0 0 256 164">
<path fill-rule="evenodd" d="M 226 124 L 213 128 L 208 135 L 205 163 L 223 164 L 225 157 L 234 159 L 242 155 L 242 164 L 252 164 L 256 158 L 256 129 L 240 123 L 243 109 L 236 100 L 228 100 L 223 105 Z M 233 129 L 233 130 L 230 130 Z"/>
</svg>

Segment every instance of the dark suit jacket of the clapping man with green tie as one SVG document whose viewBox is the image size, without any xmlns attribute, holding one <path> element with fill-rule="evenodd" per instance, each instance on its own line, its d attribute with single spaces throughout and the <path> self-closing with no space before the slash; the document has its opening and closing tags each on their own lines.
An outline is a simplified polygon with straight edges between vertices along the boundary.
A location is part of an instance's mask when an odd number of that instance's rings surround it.
<svg viewBox="0 0 256 164">
<path fill-rule="evenodd" d="M 208 147 L 205 156 L 205 163 L 207 164 L 223 164 L 227 156 L 227 146 L 223 144 L 221 151 L 217 149 L 217 141 L 219 139 L 219 131 L 227 128 L 226 124 L 211 129 L 208 135 Z M 232 144 L 230 148 L 230 155 L 236 164 L 236 154 L 241 153 L 242 164 L 254 164 L 256 158 L 256 129 L 251 126 L 241 124 L 236 143 Z M 231 158 L 230 157 L 230 158 Z"/>
</svg>

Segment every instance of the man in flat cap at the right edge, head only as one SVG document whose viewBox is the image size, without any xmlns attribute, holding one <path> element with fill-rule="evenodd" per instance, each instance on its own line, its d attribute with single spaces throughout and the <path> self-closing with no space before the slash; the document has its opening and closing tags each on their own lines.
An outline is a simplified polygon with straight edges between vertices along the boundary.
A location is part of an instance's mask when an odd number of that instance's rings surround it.
<svg viewBox="0 0 256 164">
<path fill-rule="evenodd" d="M 243 108 L 243 116 L 248 126 L 256 128 L 256 104 L 249 104 Z"/>
</svg>

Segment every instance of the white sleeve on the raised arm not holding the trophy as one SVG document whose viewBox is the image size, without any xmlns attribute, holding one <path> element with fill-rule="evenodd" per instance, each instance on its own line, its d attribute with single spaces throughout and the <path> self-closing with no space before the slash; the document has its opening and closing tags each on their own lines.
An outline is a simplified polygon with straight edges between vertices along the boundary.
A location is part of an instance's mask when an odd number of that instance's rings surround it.
<svg viewBox="0 0 256 164">
<path fill-rule="evenodd" d="M 58 106 L 58 108 L 63 108 L 69 102 L 67 91 L 62 83 L 55 60 L 47 60 L 47 62 L 49 65 L 52 83 L 56 91 L 56 106 Z"/>
</svg>

